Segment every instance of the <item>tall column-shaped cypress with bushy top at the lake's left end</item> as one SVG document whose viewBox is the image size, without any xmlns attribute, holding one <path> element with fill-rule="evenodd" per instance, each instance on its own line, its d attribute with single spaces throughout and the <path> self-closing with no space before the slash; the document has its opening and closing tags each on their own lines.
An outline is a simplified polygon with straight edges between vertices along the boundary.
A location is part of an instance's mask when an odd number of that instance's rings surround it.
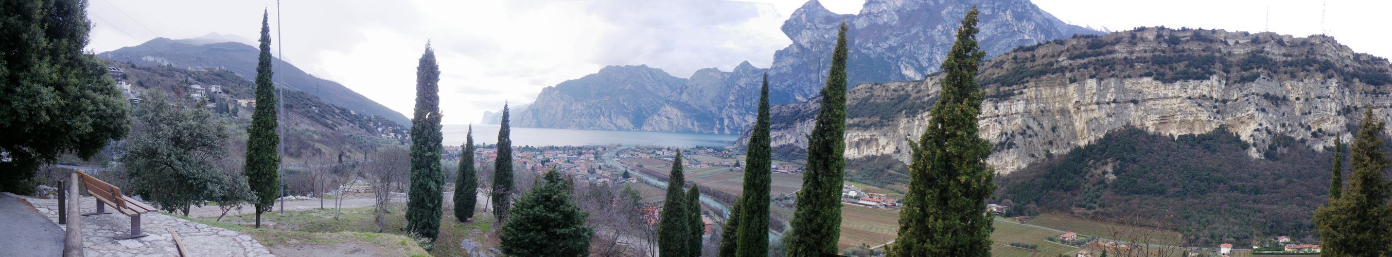
<svg viewBox="0 0 1392 257">
<path fill-rule="evenodd" d="M 440 65 L 426 43 L 416 65 L 416 114 L 411 119 L 411 192 L 406 201 L 406 229 L 434 240 L 444 214 L 444 171 L 440 151 Z"/>
</svg>

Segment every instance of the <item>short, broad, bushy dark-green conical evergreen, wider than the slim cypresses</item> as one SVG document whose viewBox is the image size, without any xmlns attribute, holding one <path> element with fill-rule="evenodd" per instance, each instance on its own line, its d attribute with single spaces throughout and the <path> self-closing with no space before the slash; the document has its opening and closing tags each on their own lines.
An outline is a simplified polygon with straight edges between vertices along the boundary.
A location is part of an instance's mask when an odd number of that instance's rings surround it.
<svg viewBox="0 0 1392 257">
<path fill-rule="evenodd" d="M 571 181 L 551 169 L 546 182 L 518 200 L 512 215 L 498 232 L 503 254 L 519 257 L 571 257 L 590 254 L 590 236 L 585 226 L 589 213 L 571 200 Z"/>
</svg>

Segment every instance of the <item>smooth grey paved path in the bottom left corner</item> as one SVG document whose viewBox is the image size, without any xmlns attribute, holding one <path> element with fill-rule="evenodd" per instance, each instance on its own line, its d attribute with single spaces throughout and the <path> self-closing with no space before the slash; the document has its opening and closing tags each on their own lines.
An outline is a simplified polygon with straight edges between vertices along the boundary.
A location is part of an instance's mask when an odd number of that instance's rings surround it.
<svg viewBox="0 0 1392 257">
<path fill-rule="evenodd" d="M 63 256 L 63 228 L 10 193 L 0 193 L 3 256 Z"/>
</svg>

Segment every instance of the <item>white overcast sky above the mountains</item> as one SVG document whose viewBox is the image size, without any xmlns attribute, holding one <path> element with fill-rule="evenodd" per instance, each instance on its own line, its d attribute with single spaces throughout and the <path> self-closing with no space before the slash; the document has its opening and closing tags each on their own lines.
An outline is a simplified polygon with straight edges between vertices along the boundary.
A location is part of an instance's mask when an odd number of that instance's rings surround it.
<svg viewBox="0 0 1392 257">
<path fill-rule="evenodd" d="M 791 42 L 778 26 L 803 0 L 89 0 L 92 51 L 155 38 L 209 32 L 255 40 L 271 15 L 273 53 L 409 115 L 415 68 L 432 42 L 441 68 L 444 124 L 479 122 L 503 101 L 530 103 L 546 86 L 606 65 L 661 68 L 686 78 L 741 61 L 767 68 Z M 823 0 L 856 14 L 864 0 Z M 1093 28 L 1134 26 L 1327 31 L 1354 51 L 1392 56 L 1392 3 L 1374 0 L 1036 0 L 1055 17 Z M 1268 11 L 1270 10 L 1270 11 Z M 1321 10 L 1327 10 L 1321 22 Z M 1270 14 L 1270 25 L 1268 25 Z M 284 21 L 277 18 L 280 15 Z M 277 29 L 277 24 L 278 28 Z M 1321 24 L 1324 24 L 1321 26 Z M 280 47 L 283 46 L 283 49 Z"/>
</svg>

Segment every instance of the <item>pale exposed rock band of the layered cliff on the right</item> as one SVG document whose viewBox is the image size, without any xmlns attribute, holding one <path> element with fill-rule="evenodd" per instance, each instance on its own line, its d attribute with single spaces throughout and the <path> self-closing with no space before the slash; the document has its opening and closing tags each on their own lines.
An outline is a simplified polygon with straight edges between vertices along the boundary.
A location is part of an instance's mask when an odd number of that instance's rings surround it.
<svg viewBox="0 0 1392 257">
<path fill-rule="evenodd" d="M 908 163 L 938 79 L 848 92 L 846 157 L 888 154 Z M 1320 35 L 1147 28 L 1083 36 L 1002 54 L 983 64 L 977 81 L 987 94 L 981 136 L 995 143 L 988 163 L 1002 174 L 1123 126 L 1158 135 L 1226 126 L 1260 158 L 1282 151 L 1268 147 L 1281 135 L 1317 150 L 1335 136 L 1350 142 L 1349 125 L 1364 107 L 1392 117 L 1388 60 Z M 813 99 L 773 108 L 775 149 L 806 147 L 817 106 Z"/>
</svg>

